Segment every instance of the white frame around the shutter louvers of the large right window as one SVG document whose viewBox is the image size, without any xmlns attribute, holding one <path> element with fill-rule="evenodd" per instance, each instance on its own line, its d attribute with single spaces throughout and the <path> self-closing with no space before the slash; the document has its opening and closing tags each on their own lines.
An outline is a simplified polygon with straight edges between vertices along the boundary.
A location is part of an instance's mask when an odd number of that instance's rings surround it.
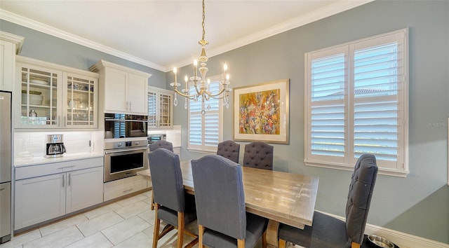
<svg viewBox="0 0 449 248">
<path fill-rule="evenodd" d="M 377 159 L 379 174 L 387 174 L 396 177 L 406 177 L 408 171 L 408 28 L 399 29 L 394 32 L 371 36 L 366 39 L 359 39 L 348 43 L 343 43 L 321 50 L 315 50 L 304 54 L 304 164 L 307 166 L 326 167 L 338 170 L 354 170 L 354 164 L 357 158 L 354 157 L 354 107 L 357 101 L 354 101 L 354 55 L 356 50 L 363 50 L 373 46 L 382 46 L 394 39 L 398 46 L 403 46 L 403 56 L 398 57 L 397 61 L 403 60 L 403 81 L 402 88 L 396 95 L 398 102 L 397 110 L 397 160 L 394 163 L 387 160 Z M 362 45 L 362 47 L 360 47 Z M 311 151 L 311 62 L 326 56 L 338 55 L 344 53 L 344 157 L 314 155 Z M 398 86 L 399 87 L 399 86 Z M 351 93 L 350 93 L 351 92 Z M 381 99 L 377 97 L 376 99 Z M 341 102 L 341 101 L 340 101 Z M 380 102 L 380 100 L 377 100 Z"/>
</svg>

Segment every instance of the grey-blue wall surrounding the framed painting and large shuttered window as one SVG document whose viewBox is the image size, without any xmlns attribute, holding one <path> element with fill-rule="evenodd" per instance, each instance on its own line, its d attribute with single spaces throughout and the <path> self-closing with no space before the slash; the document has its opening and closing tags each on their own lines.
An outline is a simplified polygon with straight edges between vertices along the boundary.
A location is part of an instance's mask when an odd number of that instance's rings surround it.
<svg viewBox="0 0 449 248">
<path fill-rule="evenodd" d="M 303 162 L 304 53 L 405 27 L 410 31 L 410 174 L 377 177 L 368 223 L 449 243 L 449 1 L 374 1 L 212 57 L 208 75 L 220 74 L 227 62 L 232 88 L 290 78 L 290 144 L 274 144 L 274 170 L 319 177 L 316 209 L 344 216 L 351 172 Z M 192 66 L 181 68 L 179 75 L 184 74 L 192 75 Z M 173 81 L 173 74 L 167 79 Z M 184 99 L 178 100 L 175 123 L 182 125 L 187 147 L 187 111 Z M 225 110 L 224 139 L 232 139 L 232 107 Z M 203 155 L 182 149 L 183 159 Z"/>
</svg>

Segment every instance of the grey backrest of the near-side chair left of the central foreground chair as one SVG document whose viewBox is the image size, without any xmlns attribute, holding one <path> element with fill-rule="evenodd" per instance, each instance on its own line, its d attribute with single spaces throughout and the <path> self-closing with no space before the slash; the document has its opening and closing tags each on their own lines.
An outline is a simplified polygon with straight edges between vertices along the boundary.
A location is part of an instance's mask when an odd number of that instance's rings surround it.
<svg viewBox="0 0 449 248">
<path fill-rule="evenodd" d="M 148 153 L 149 171 L 152 175 L 154 202 L 176 212 L 185 210 L 180 158 L 167 149 Z"/>
</svg>

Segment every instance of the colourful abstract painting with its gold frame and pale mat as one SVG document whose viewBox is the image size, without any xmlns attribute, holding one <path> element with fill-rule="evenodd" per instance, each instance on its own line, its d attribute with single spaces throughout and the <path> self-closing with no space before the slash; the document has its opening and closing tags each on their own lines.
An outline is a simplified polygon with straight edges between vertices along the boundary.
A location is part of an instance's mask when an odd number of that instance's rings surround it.
<svg viewBox="0 0 449 248">
<path fill-rule="evenodd" d="M 288 144 L 289 83 L 234 88 L 234 140 Z"/>
</svg>

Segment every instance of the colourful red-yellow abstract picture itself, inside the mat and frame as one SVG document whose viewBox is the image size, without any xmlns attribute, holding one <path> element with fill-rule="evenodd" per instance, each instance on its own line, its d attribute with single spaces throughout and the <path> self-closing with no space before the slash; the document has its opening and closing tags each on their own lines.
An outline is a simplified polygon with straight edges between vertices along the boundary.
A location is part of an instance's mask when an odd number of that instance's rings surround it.
<svg viewBox="0 0 449 248">
<path fill-rule="evenodd" d="M 265 90 L 239 96 L 239 133 L 258 135 L 281 133 L 280 91 L 280 89 Z"/>
</svg>

